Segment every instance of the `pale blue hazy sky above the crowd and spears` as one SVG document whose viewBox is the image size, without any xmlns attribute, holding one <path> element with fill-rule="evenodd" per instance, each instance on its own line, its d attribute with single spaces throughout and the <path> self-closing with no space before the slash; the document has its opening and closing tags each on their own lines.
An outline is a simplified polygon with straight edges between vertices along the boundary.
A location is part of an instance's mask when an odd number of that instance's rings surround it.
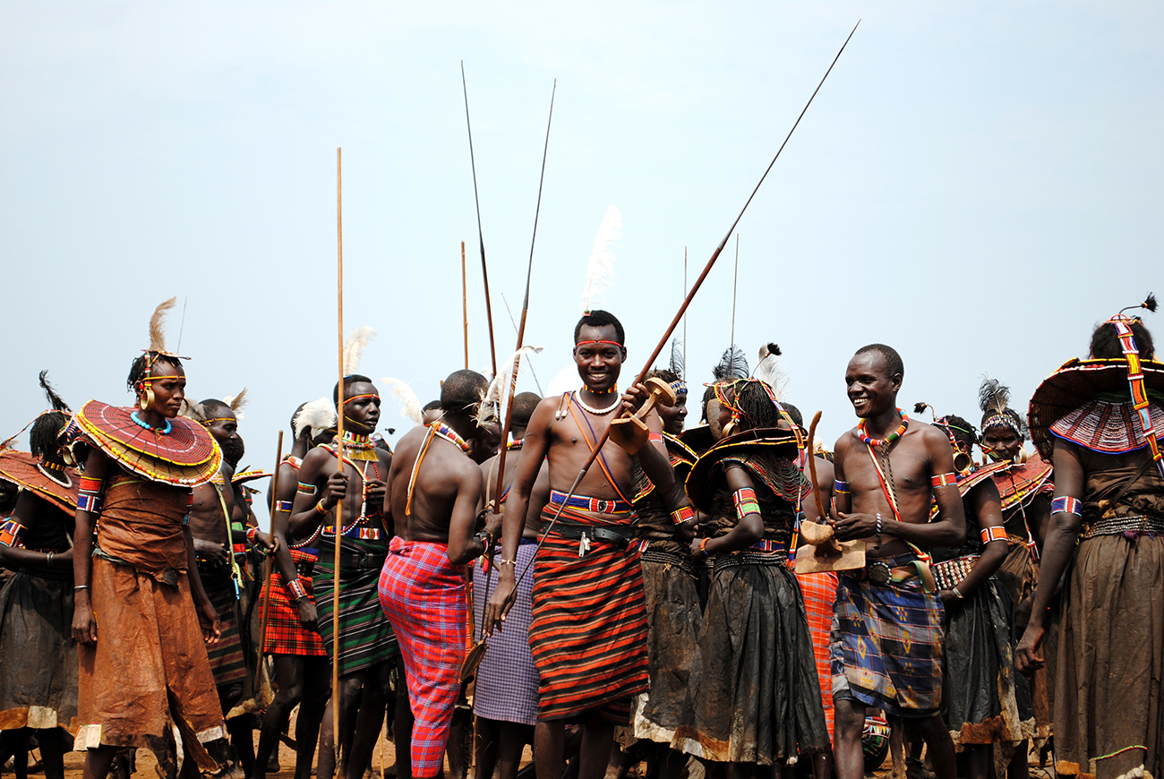
<svg viewBox="0 0 1164 779">
<path fill-rule="evenodd" d="M 902 405 L 977 422 L 984 371 L 1024 401 L 1094 323 L 1164 292 L 1159 3 L 8 2 L 0 431 L 43 409 L 42 368 L 76 405 L 129 403 L 149 314 L 177 295 L 191 394 L 247 385 L 246 461 L 268 465 L 334 383 L 338 146 L 346 323 L 379 331 L 362 371 L 427 401 L 461 367 L 461 240 L 488 367 L 461 59 L 498 350 L 558 78 L 526 341 L 545 385 L 613 204 L 604 305 L 637 371 L 683 247 L 694 278 L 859 17 L 740 222 L 736 340 L 753 364 L 781 345 L 788 398 L 830 441 L 870 341 L 901 350 Z M 690 310 L 695 384 L 728 345 L 731 270 L 729 250 Z M 402 426 L 391 403 L 384 423 Z"/>
</svg>

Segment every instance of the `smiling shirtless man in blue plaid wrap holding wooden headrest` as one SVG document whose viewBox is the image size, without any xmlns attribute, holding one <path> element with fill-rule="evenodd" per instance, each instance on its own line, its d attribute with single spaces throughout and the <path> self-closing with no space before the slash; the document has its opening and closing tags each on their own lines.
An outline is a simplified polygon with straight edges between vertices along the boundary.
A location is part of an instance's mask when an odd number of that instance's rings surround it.
<svg viewBox="0 0 1164 779">
<path fill-rule="evenodd" d="M 832 699 L 839 779 L 865 774 L 866 707 L 907 718 L 929 746 L 937 779 L 954 779 L 942 722 L 944 609 L 923 589 L 922 550 L 956 546 L 966 531 L 953 451 L 945 433 L 896 408 L 904 367 L 892 347 L 857 352 L 845 371 L 861 423 L 835 447 L 837 538 L 866 543 L 866 567 L 842 572 L 832 626 Z M 929 522 L 937 500 L 941 514 Z M 903 615 L 903 616 L 902 616 Z M 909 640 L 897 638 L 904 632 Z"/>
</svg>

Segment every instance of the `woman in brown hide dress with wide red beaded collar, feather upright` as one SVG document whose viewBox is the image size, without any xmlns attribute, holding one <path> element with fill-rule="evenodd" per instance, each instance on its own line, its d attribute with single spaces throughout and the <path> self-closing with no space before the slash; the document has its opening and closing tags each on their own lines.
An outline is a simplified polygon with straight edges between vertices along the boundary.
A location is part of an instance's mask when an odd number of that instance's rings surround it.
<svg viewBox="0 0 1164 779">
<path fill-rule="evenodd" d="M 226 735 L 204 644 L 218 640 L 218 615 L 198 578 L 186 522 L 190 488 L 219 472 L 222 453 L 201 425 L 178 416 L 186 376 L 162 335 L 172 306 L 171 299 L 154 312 L 150 348 L 130 367 L 137 408 L 90 401 L 73 418 L 88 445 L 72 622 L 80 644 L 74 748 L 88 750 L 86 779 L 105 779 L 119 746 L 148 746 L 165 771 L 176 771 L 176 721 L 183 773 L 197 776 L 198 766 L 215 766 L 203 744 Z"/>
</svg>

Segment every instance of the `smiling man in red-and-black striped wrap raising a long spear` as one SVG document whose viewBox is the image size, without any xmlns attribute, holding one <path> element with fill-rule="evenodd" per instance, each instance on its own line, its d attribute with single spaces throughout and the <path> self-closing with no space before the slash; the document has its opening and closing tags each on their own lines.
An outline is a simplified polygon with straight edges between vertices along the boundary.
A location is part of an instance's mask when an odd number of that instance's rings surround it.
<svg viewBox="0 0 1164 779">
<path fill-rule="evenodd" d="M 534 562 L 530 644 L 541 674 L 534 736 L 540 779 L 561 776 L 567 720 L 584 723 L 581 779 L 599 779 L 606 770 L 613 727 L 630 720 L 630 700 L 647 689 L 647 624 L 643 571 L 631 498 L 634 458 L 615 444 L 603 446 L 576 494 L 567 493 L 618 409 L 616 390 L 626 357 L 622 324 L 605 311 L 582 317 L 574 333 L 574 360 L 583 387 L 542 401 L 530 420 L 523 456 L 505 502 L 498 583 L 485 612 L 485 626 L 501 626 L 512 606 L 517 551 L 541 462 L 548 456 L 548 520 L 561 516 Z M 641 403 L 640 388 L 626 398 Z M 644 473 L 667 496 L 668 510 L 686 502 L 676 488 L 661 434 L 659 415 L 644 420 L 652 437 L 637 458 Z M 555 503 L 555 501 L 558 501 Z M 566 505 L 563 505 L 563 503 Z M 577 585 L 585 582 L 585 587 Z M 568 622 L 563 617 L 568 615 Z"/>
</svg>

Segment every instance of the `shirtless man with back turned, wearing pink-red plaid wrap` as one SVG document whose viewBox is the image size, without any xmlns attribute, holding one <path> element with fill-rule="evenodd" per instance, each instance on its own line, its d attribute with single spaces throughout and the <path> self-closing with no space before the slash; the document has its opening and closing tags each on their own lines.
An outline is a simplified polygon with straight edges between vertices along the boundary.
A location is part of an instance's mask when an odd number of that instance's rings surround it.
<svg viewBox="0 0 1164 779">
<path fill-rule="evenodd" d="M 488 434 L 476 418 L 489 381 L 457 370 L 441 387 L 441 418 L 405 433 L 388 477 L 385 514 L 392 538 L 379 578 L 379 602 L 400 642 L 412 724 L 411 765 L 417 779 L 443 763 L 453 708 L 461 692 L 464 576 L 485 551 L 474 536 L 481 507 L 481 468 L 470 441 Z"/>
</svg>

